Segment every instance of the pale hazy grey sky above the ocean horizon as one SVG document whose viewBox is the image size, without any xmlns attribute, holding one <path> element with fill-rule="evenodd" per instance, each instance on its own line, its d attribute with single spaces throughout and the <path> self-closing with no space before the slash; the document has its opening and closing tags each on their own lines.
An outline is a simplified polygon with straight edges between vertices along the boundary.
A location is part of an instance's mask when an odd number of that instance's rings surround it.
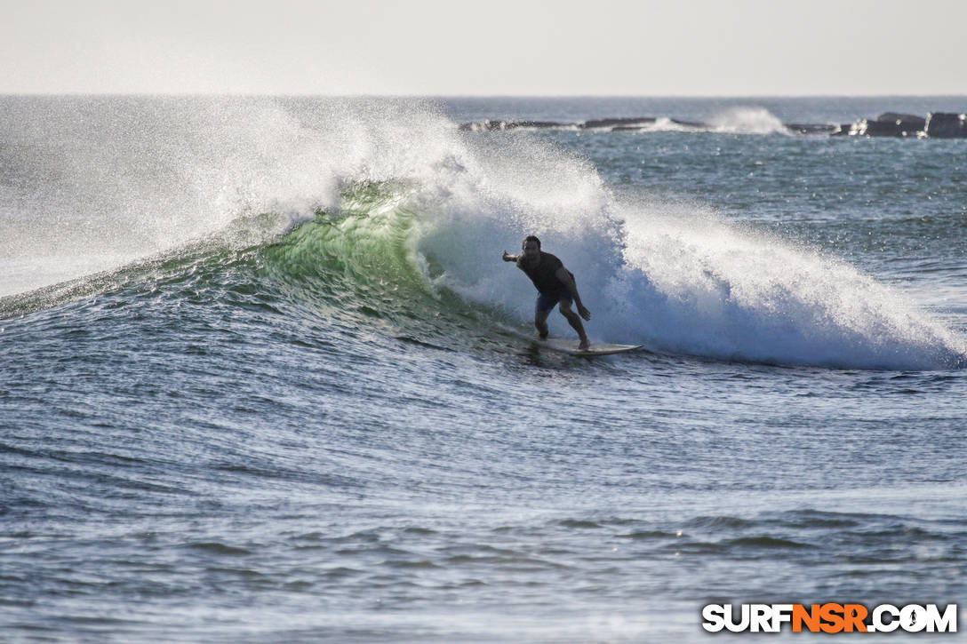
<svg viewBox="0 0 967 644">
<path fill-rule="evenodd" d="M 0 8 L 0 93 L 967 94 L 967 0 Z"/>
</svg>

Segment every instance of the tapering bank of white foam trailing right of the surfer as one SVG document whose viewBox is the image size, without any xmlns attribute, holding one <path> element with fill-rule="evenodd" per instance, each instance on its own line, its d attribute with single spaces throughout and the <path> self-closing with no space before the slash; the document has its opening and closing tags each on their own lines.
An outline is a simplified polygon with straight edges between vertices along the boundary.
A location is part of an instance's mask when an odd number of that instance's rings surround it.
<svg viewBox="0 0 967 644">
<path fill-rule="evenodd" d="M 627 220 L 611 284 L 630 337 L 725 359 L 887 368 L 949 366 L 961 340 L 894 290 L 833 257 L 700 214 Z"/>
</svg>

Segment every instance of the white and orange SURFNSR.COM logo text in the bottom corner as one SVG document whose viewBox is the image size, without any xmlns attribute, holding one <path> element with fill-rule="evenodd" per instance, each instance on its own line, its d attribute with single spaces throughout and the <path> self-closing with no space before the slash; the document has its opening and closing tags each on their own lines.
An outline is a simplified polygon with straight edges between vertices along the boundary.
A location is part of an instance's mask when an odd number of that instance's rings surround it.
<svg viewBox="0 0 967 644">
<path fill-rule="evenodd" d="M 956 632 L 957 604 L 943 611 L 935 603 L 902 607 L 883 603 L 867 609 L 861 603 L 710 603 L 702 608 L 702 628 L 709 632 Z"/>
</svg>

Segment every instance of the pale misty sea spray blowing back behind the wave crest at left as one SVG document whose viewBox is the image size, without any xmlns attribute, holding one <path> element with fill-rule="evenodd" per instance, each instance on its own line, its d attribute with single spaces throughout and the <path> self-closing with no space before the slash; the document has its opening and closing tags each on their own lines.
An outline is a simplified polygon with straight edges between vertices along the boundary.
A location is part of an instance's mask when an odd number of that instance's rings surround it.
<svg viewBox="0 0 967 644">
<path fill-rule="evenodd" d="M 421 124 L 440 120 L 422 102 L 41 97 L 4 107 L 0 251 L 16 271 L 0 295 L 117 268 L 240 217 L 306 220 L 337 203 L 341 181 L 392 177 L 444 131 Z"/>
</svg>

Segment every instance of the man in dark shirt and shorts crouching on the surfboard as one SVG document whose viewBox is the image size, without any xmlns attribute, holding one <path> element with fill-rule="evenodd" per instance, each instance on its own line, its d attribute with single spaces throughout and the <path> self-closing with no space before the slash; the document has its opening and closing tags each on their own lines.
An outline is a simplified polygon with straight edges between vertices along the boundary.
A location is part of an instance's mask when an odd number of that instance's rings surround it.
<svg viewBox="0 0 967 644">
<path fill-rule="evenodd" d="M 508 254 L 504 251 L 505 262 L 516 262 L 517 268 L 527 274 L 538 288 L 538 303 L 534 307 L 534 326 L 538 329 L 541 339 L 547 338 L 547 316 L 550 311 L 560 305 L 561 314 L 568 318 L 568 322 L 581 338 L 577 348 L 584 351 L 588 348 L 588 337 L 584 333 L 581 317 L 591 319 L 591 311 L 581 304 L 581 296 L 577 294 L 577 284 L 571 271 L 564 268 L 564 264 L 556 256 L 541 249 L 541 240 L 534 235 L 526 237 L 520 245 L 523 249 L 519 255 Z M 571 303 L 577 305 L 577 313 L 571 310 Z M 578 317 L 578 313 L 580 317 Z"/>
</svg>

